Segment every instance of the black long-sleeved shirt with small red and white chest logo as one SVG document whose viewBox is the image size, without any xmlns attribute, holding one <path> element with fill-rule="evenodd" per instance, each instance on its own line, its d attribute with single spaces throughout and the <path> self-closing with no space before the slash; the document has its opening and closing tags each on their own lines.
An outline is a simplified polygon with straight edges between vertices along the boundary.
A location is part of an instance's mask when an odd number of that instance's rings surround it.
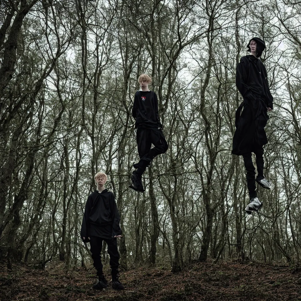
<svg viewBox="0 0 301 301">
<path fill-rule="evenodd" d="M 134 97 L 132 116 L 135 128 L 162 129 L 158 111 L 158 98 L 154 91 L 137 91 Z"/>
</svg>

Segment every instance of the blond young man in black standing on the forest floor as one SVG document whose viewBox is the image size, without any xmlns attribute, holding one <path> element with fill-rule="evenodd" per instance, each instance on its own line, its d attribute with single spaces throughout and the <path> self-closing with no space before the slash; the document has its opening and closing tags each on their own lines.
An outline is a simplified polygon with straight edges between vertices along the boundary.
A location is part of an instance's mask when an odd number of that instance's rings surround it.
<svg viewBox="0 0 301 301">
<path fill-rule="evenodd" d="M 117 249 L 117 237 L 122 237 L 119 226 L 120 215 L 115 202 L 114 194 L 108 191 L 104 185 L 107 175 L 98 172 L 94 180 L 97 190 L 88 196 L 85 212 L 82 219 L 80 236 L 85 243 L 90 243 L 93 265 L 96 268 L 98 283 L 93 285 L 94 289 L 103 290 L 107 288 L 107 280 L 102 271 L 101 262 L 102 242 L 105 241 L 110 255 L 110 266 L 112 269 L 112 287 L 115 290 L 123 290 L 119 281 L 119 253 Z"/>
</svg>

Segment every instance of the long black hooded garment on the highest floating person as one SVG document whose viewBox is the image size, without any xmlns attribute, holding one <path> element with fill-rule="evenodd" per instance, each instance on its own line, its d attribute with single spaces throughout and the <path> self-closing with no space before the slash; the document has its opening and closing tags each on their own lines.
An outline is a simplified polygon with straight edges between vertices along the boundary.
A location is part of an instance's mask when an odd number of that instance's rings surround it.
<svg viewBox="0 0 301 301">
<path fill-rule="evenodd" d="M 260 38 L 253 38 L 250 42 L 252 40 L 257 43 L 256 56 L 260 57 L 265 43 Z M 249 51 L 250 42 L 247 46 Z M 265 66 L 259 58 L 253 54 L 240 58 L 236 68 L 236 86 L 244 101 L 235 114 L 232 154 L 254 152 L 268 143 L 264 128 L 269 119 L 267 109 L 273 109 L 273 97 L 267 77 Z"/>
</svg>

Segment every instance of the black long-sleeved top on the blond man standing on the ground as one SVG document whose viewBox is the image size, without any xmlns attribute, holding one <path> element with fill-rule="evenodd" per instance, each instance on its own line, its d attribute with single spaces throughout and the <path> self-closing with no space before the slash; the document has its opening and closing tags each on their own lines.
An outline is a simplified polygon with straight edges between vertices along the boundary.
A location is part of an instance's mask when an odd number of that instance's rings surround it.
<svg viewBox="0 0 301 301">
<path fill-rule="evenodd" d="M 80 236 L 87 242 L 89 236 L 112 238 L 121 235 L 120 215 L 114 194 L 105 189 L 101 193 L 95 190 L 88 196 L 82 219 Z"/>
</svg>

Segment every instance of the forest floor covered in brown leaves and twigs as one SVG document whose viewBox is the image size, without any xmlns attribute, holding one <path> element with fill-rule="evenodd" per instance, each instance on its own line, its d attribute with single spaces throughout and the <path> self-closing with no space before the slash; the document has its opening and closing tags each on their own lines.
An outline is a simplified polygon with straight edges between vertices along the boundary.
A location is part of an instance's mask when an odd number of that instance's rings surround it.
<svg viewBox="0 0 301 301">
<path fill-rule="evenodd" d="M 301 300 L 301 268 L 283 263 L 196 263 L 176 274 L 141 267 L 121 273 L 123 291 L 114 291 L 110 281 L 107 290 L 93 290 L 93 268 L 62 267 L 59 262 L 45 270 L 14 265 L 13 272 L 7 272 L 0 262 L 0 300 Z"/>
</svg>

